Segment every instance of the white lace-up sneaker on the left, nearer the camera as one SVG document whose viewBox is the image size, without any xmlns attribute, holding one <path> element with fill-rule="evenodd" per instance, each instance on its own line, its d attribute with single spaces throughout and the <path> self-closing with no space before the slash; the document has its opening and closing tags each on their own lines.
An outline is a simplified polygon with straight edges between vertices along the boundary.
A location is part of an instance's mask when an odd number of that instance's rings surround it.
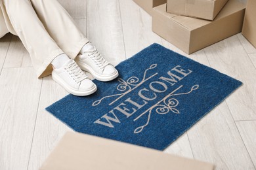
<svg viewBox="0 0 256 170">
<path fill-rule="evenodd" d="M 73 95 L 90 95 L 96 92 L 96 85 L 83 73 L 77 63 L 70 59 L 59 69 L 53 69 L 53 80 Z"/>
</svg>

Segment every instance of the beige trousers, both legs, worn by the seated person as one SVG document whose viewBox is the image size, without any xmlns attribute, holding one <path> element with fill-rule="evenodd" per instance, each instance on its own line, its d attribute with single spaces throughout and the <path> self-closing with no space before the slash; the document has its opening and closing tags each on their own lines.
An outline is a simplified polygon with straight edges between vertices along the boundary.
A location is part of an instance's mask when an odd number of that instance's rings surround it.
<svg viewBox="0 0 256 170">
<path fill-rule="evenodd" d="M 74 59 L 88 42 L 56 0 L 3 0 L 3 3 L 16 35 L 30 53 L 38 78 L 51 75 L 51 61 L 56 56 L 66 53 Z"/>
</svg>

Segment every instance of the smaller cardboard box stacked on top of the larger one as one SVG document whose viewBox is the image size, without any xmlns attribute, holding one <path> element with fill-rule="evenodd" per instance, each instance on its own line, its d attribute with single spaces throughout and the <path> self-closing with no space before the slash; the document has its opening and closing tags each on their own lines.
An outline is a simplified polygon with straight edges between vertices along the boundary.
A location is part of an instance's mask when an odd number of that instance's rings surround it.
<svg viewBox="0 0 256 170">
<path fill-rule="evenodd" d="M 213 20 L 228 0 L 167 0 L 167 12 Z"/>
</svg>

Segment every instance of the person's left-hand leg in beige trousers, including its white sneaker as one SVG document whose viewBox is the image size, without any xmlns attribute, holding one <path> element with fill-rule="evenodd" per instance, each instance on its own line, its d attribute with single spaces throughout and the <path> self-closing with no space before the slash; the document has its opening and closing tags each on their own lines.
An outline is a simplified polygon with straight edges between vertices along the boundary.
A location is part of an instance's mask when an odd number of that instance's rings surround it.
<svg viewBox="0 0 256 170">
<path fill-rule="evenodd" d="M 4 0 L 4 2 L 14 30 L 30 53 L 37 76 L 52 73 L 53 79 L 74 95 L 89 95 L 96 91 L 96 85 L 87 78 L 73 59 L 69 59 L 64 54 L 49 35 L 37 17 L 30 0 Z M 50 63 L 56 57 L 61 61 L 63 59 L 67 61 L 53 71 Z"/>
</svg>

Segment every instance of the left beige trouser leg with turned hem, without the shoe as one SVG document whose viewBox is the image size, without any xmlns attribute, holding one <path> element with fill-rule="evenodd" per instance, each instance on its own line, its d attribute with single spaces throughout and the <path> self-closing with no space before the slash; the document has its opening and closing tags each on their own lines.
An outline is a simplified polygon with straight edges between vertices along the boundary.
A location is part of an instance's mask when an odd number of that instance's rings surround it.
<svg viewBox="0 0 256 170">
<path fill-rule="evenodd" d="M 18 37 L 30 53 L 37 77 L 50 75 L 51 61 L 64 52 L 49 35 L 30 0 L 3 0 Z"/>
</svg>

